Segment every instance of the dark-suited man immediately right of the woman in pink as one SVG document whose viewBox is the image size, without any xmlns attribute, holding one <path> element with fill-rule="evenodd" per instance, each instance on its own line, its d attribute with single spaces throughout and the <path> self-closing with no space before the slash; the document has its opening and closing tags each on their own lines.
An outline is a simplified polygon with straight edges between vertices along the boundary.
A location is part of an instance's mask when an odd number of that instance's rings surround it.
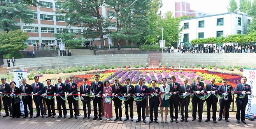
<svg viewBox="0 0 256 129">
<path fill-rule="evenodd" d="M 116 113 L 116 120 L 122 121 L 122 100 L 118 98 L 117 95 L 121 95 L 123 93 L 123 86 L 118 83 L 118 78 L 114 78 L 114 84 L 112 85 L 112 95 L 114 96 L 113 101 L 114 101 L 114 106 L 115 106 L 115 113 Z M 119 112 L 119 114 L 118 114 Z"/>
</svg>

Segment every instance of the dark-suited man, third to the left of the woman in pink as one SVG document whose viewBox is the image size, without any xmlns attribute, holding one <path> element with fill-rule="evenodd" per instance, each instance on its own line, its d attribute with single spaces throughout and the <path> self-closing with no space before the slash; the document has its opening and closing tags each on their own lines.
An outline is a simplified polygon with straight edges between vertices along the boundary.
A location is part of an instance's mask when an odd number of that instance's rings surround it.
<svg viewBox="0 0 256 129">
<path fill-rule="evenodd" d="M 74 117 L 73 115 L 73 105 L 74 105 L 74 111 L 75 111 L 75 119 L 77 119 L 78 115 L 78 107 L 77 107 L 77 100 L 75 100 L 74 97 L 78 97 L 77 94 L 77 84 L 73 82 L 73 77 L 69 77 L 69 83 L 66 84 L 66 92 L 68 94 L 67 100 L 68 100 L 68 106 L 69 106 L 69 114 L 70 116 L 68 119 Z"/>
</svg>

